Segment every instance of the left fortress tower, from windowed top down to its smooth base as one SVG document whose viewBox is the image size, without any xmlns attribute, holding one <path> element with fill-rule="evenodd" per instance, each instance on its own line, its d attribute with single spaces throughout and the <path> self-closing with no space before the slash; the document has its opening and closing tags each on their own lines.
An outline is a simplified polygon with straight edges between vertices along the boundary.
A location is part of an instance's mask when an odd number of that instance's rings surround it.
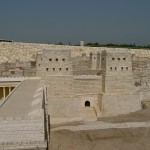
<svg viewBox="0 0 150 150">
<path fill-rule="evenodd" d="M 37 76 L 48 86 L 48 114 L 51 123 L 81 118 L 80 100 L 73 87 L 70 50 L 44 50 L 38 54 Z"/>
</svg>

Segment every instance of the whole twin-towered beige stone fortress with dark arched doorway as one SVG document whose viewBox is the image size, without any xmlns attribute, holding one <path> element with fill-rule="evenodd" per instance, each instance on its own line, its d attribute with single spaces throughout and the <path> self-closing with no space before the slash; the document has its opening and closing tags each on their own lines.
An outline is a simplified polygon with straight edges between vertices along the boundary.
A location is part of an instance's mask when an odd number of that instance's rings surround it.
<svg viewBox="0 0 150 150">
<path fill-rule="evenodd" d="M 71 50 L 38 54 L 36 72 L 48 86 L 51 123 L 97 120 L 140 110 L 131 56 L 129 52 L 90 53 L 89 58 L 78 57 L 80 62 L 83 59 L 79 66 Z M 73 66 L 79 66 L 77 75 Z"/>
</svg>

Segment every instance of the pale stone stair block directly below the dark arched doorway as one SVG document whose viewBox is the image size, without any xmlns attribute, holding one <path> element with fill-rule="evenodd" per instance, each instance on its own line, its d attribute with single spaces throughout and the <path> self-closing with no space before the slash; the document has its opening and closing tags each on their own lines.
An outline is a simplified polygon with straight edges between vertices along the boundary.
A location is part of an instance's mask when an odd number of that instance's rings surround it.
<svg viewBox="0 0 150 150">
<path fill-rule="evenodd" d="M 84 107 L 82 112 L 83 112 L 83 121 L 97 121 L 94 108 Z"/>
</svg>

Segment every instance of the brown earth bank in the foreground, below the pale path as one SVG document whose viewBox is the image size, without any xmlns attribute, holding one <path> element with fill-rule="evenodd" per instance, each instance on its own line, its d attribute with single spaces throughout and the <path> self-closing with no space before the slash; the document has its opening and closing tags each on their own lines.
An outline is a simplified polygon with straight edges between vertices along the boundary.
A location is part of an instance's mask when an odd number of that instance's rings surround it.
<svg viewBox="0 0 150 150">
<path fill-rule="evenodd" d="M 51 150 L 149 150 L 150 128 L 51 133 Z"/>
</svg>

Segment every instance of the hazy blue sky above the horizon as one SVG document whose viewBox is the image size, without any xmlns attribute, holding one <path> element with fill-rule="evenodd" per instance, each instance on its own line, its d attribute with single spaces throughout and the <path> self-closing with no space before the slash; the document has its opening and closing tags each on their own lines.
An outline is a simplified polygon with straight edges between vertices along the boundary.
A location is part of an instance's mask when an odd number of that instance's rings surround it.
<svg viewBox="0 0 150 150">
<path fill-rule="evenodd" d="M 0 39 L 150 44 L 150 0 L 0 0 Z"/>
</svg>

